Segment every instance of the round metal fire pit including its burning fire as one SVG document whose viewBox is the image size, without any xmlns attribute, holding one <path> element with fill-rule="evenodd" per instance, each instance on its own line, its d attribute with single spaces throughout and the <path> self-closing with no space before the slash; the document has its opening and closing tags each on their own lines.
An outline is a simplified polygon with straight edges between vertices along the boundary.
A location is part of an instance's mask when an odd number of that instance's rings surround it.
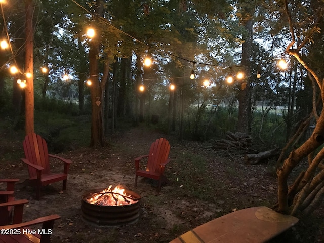
<svg viewBox="0 0 324 243">
<path fill-rule="evenodd" d="M 139 199 L 137 193 L 120 187 L 87 191 L 81 200 L 82 218 L 96 226 L 135 223 L 139 217 Z"/>
</svg>

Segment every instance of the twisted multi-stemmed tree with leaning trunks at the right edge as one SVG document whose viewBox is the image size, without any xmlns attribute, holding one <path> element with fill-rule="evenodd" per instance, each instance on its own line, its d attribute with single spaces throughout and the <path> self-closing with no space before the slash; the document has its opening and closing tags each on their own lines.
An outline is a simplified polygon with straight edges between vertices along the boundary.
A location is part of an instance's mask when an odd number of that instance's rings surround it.
<svg viewBox="0 0 324 243">
<path fill-rule="evenodd" d="M 304 131 L 304 128 L 309 126 L 312 117 L 316 120 L 316 127 L 301 146 L 293 149 L 283 161 L 282 156 L 278 160 L 278 163 L 282 162 L 277 170 L 278 210 L 290 214 L 297 214 L 298 212 L 309 214 L 316 209 L 324 196 L 324 169 L 321 166 L 321 161 L 324 159 L 324 149 L 320 148 L 324 143 L 324 70 L 322 59 L 320 59 L 320 65 L 318 65 L 318 60 L 308 59 L 307 55 L 303 55 L 303 50 L 313 53 L 313 48 L 318 45 L 316 41 L 322 40 L 320 29 L 324 26 L 324 3 L 319 0 L 301 3 L 285 0 L 282 7 L 285 9 L 291 36 L 291 42 L 287 46 L 286 52 L 294 56 L 307 70 L 314 89 L 313 111 L 301 123 L 300 128 L 288 143 L 294 141 Z M 317 89 L 320 93 L 316 92 Z M 320 106 L 318 106 L 318 100 L 321 101 Z M 320 149 L 317 152 L 318 148 Z M 282 153 L 286 150 L 287 146 Z M 308 159 L 308 167 L 300 173 L 291 186 L 288 186 L 292 170 L 304 158 Z"/>
</svg>

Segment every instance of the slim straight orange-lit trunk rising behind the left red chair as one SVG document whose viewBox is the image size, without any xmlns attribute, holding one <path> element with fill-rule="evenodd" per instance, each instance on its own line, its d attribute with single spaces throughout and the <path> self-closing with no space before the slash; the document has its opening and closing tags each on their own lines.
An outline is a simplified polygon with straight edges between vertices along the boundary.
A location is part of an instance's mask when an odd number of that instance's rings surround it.
<svg viewBox="0 0 324 243">
<path fill-rule="evenodd" d="M 34 132 L 34 83 L 33 83 L 33 4 L 32 0 L 26 0 L 26 42 L 25 42 L 25 73 L 30 73 L 26 76 L 25 87 L 25 133 Z"/>
</svg>

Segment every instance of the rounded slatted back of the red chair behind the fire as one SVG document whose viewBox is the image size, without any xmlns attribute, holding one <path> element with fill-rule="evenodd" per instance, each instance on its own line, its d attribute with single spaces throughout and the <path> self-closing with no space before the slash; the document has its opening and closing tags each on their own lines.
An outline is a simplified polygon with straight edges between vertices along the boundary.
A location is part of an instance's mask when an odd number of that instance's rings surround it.
<svg viewBox="0 0 324 243">
<path fill-rule="evenodd" d="M 146 171 L 159 173 L 160 165 L 168 159 L 169 152 L 169 141 L 165 138 L 156 139 L 150 148 Z"/>
</svg>

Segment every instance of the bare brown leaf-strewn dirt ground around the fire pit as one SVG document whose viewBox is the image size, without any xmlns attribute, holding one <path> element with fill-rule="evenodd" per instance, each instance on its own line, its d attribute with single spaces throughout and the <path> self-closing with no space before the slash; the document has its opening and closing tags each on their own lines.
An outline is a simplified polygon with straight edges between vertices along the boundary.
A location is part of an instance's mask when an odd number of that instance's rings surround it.
<svg viewBox="0 0 324 243">
<path fill-rule="evenodd" d="M 151 142 L 166 137 L 171 144 L 171 163 L 165 172 L 170 183 L 156 193 L 156 183 L 139 179 L 134 188 L 134 157 L 146 154 Z M 247 166 L 240 151 L 208 149 L 208 142 L 177 141 L 143 127 L 118 132 L 102 149 L 79 148 L 62 157 L 73 161 L 70 167 L 67 190 L 61 191 L 61 182 L 42 190 L 42 198 L 34 199 L 35 192 L 26 181 L 27 169 L 20 161 L 1 160 L 0 178 L 19 178 L 16 198 L 28 199 L 24 220 L 58 214 L 52 242 L 169 242 L 182 233 L 216 217 L 253 206 L 272 206 L 276 200 L 276 178 L 269 164 Z M 12 144 L 13 151 L 23 156 L 21 142 Z M 7 146 L 8 147 L 8 146 Z M 194 154 L 208 161 L 206 176 L 215 182 L 213 188 L 200 184 L 203 178 L 193 177 L 201 190 L 212 190 L 213 197 L 202 200 L 190 193 L 181 178 L 177 159 Z M 189 157 L 190 158 L 190 157 Z M 194 162 L 194 161 L 193 161 Z M 63 165 L 53 161 L 52 170 L 61 171 Z M 138 222 L 120 227 L 94 227 L 82 220 L 80 200 L 83 192 L 109 185 L 122 185 L 143 198 L 140 201 Z M 206 186 L 206 188 L 205 188 Z M 185 191 L 186 193 L 183 193 Z M 189 191 L 189 192 L 188 192 Z M 322 209 L 272 242 L 324 242 Z M 315 221 L 313 224 L 311 221 Z M 307 230 L 305 230 L 307 229 Z M 307 231 L 307 235 L 305 232 Z"/>
</svg>

